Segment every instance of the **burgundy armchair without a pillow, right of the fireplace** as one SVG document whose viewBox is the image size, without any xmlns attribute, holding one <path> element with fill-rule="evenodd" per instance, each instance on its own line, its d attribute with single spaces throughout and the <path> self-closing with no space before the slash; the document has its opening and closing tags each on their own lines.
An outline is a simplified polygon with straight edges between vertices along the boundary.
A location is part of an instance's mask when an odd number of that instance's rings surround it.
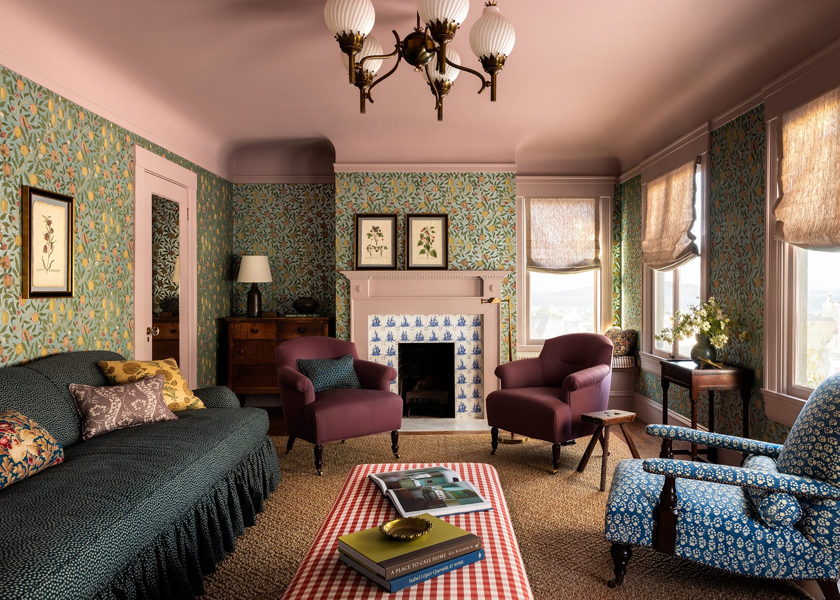
<svg viewBox="0 0 840 600">
<path fill-rule="evenodd" d="M 591 436 L 596 425 L 583 413 L 606 410 L 612 378 L 612 341 L 597 333 L 569 333 L 543 343 L 538 358 L 522 358 L 496 368 L 501 389 L 487 395 L 492 454 L 499 428 L 554 444 L 554 472 L 560 446 Z"/>
</svg>

